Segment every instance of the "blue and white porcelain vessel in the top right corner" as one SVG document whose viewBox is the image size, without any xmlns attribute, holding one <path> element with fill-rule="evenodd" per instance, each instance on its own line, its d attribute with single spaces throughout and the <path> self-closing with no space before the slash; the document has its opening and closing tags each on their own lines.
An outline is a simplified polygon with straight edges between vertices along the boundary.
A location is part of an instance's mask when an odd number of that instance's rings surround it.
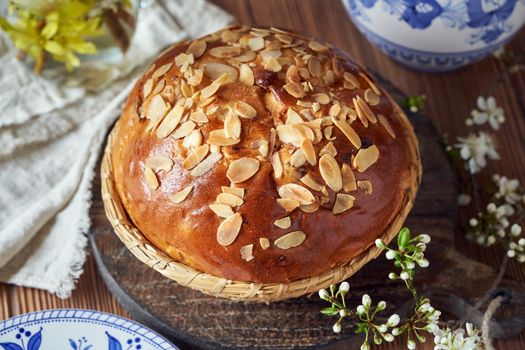
<svg viewBox="0 0 525 350">
<path fill-rule="evenodd" d="M 525 0 L 343 0 L 357 28 L 411 68 L 442 72 L 482 59 L 525 24 Z"/>
</svg>

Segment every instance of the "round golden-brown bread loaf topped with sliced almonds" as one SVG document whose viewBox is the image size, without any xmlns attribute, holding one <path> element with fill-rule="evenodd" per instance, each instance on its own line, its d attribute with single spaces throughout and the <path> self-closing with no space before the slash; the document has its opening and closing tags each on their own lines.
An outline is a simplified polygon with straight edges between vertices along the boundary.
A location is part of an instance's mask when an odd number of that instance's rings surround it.
<svg viewBox="0 0 525 350">
<path fill-rule="evenodd" d="M 387 93 L 341 51 L 275 28 L 167 49 L 136 83 L 111 148 L 143 235 L 238 281 L 285 283 L 350 261 L 419 181 L 412 127 Z"/>
</svg>

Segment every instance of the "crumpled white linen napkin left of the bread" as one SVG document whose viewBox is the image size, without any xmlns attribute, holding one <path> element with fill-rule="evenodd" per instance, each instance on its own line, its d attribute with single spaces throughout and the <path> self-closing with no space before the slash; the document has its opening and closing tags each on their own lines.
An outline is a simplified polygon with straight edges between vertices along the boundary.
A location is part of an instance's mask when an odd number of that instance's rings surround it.
<svg viewBox="0 0 525 350">
<path fill-rule="evenodd" d="M 205 0 L 141 9 L 118 66 L 39 77 L 0 33 L 0 281 L 68 297 L 83 271 L 91 181 L 104 137 L 138 74 L 167 45 L 224 27 Z"/>
</svg>

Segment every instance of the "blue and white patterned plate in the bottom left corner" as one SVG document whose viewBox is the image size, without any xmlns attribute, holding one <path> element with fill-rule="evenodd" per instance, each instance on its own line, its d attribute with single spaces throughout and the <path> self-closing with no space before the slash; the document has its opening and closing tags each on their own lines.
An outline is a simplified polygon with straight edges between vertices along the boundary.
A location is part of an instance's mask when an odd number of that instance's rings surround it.
<svg viewBox="0 0 525 350">
<path fill-rule="evenodd" d="M 128 319 L 81 309 L 32 312 L 0 321 L 0 350 L 176 350 Z"/>
</svg>

